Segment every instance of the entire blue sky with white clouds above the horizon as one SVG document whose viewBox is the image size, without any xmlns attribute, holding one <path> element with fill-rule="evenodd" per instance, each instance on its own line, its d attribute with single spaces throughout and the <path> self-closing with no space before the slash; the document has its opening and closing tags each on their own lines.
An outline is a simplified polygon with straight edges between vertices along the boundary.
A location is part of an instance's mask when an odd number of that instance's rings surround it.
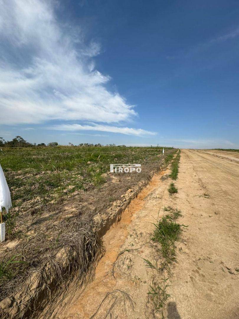
<svg viewBox="0 0 239 319">
<path fill-rule="evenodd" d="M 5 140 L 239 148 L 238 1 L 0 4 Z"/>
</svg>

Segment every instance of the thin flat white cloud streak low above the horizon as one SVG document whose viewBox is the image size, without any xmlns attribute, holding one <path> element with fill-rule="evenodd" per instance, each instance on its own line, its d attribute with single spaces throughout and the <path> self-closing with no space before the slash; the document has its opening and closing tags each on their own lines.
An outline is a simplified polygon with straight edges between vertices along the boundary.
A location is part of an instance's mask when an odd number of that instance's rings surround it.
<svg viewBox="0 0 239 319">
<path fill-rule="evenodd" d="M 79 130 L 91 130 L 91 131 L 103 131 L 112 133 L 121 133 L 134 136 L 152 136 L 156 135 L 156 132 L 150 132 L 142 129 L 132 129 L 128 127 L 116 127 L 109 125 L 101 125 L 92 123 L 91 125 L 81 124 L 60 124 L 50 127 L 51 130 L 63 130 L 63 131 L 79 131 Z"/>
</svg>

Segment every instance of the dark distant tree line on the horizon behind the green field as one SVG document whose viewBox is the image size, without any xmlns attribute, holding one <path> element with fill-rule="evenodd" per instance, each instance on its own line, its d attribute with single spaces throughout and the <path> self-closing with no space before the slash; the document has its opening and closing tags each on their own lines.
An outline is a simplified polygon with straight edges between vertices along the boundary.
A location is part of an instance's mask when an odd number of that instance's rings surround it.
<svg viewBox="0 0 239 319">
<path fill-rule="evenodd" d="M 21 136 L 16 136 L 14 137 L 11 141 L 5 141 L 3 137 L 0 137 L 0 147 L 34 147 L 34 146 L 41 146 L 41 147 L 47 147 L 47 146 L 58 146 L 57 142 L 50 142 L 47 145 L 45 143 L 29 143 L 27 142 L 23 137 Z M 76 146 L 73 145 L 72 143 L 69 143 L 69 146 Z M 104 146 L 100 143 L 98 144 L 90 144 L 90 143 L 80 143 L 78 146 L 96 146 L 96 147 L 101 147 Z M 126 145 L 115 145 L 115 144 L 107 144 L 105 146 L 126 146 Z"/>
</svg>

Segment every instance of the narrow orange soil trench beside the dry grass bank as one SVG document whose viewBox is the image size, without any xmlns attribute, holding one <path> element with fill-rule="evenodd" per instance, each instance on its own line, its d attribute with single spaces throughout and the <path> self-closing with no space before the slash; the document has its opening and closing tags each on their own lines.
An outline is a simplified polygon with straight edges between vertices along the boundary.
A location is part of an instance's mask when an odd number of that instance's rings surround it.
<svg viewBox="0 0 239 319">
<path fill-rule="evenodd" d="M 120 220 L 114 223 L 102 237 L 105 253 L 96 266 L 93 281 L 76 293 L 73 300 L 66 301 L 66 308 L 63 312 L 60 310 L 61 315 L 58 312 L 58 318 L 90 318 L 93 315 L 89 306 L 92 294 L 94 297 L 97 296 L 98 300 L 102 300 L 107 292 L 114 290 L 115 280 L 112 276 L 112 267 L 120 253 L 120 247 L 128 236 L 128 225 L 133 220 L 135 212 L 143 208 L 145 198 L 162 182 L 160 179 L 164 174 L 165 171 L 154 174 L 148 185 L 141 190 L 138 196 L 122 212 Z M 97 306 L 93 305 L 93 308 Z"/>
</svg>

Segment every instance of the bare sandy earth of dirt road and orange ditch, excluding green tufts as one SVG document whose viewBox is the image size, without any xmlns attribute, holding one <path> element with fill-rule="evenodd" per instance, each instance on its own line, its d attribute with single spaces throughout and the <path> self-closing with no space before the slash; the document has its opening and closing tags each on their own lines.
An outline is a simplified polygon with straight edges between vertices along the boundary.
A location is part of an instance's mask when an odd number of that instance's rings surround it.
<svg viewBox="0 0 239 319">
<path fill-rule="evenodd" d="M 156 174 L 105 234 L 94 280 L 71 295 L 56 317 L 162 318 L 148 296 L 162 275 L 142 258 L 160 260 L 150 240 L 152 223 L 171 206 L 182 211 L 178 222 L 188 227 L 177 242 L 165 318 L 239 318 L 239 162 L 238 154 L 228 153 L 182 150 L 178 194 L 167 190 L 169 170 Z"/>
</svg>

